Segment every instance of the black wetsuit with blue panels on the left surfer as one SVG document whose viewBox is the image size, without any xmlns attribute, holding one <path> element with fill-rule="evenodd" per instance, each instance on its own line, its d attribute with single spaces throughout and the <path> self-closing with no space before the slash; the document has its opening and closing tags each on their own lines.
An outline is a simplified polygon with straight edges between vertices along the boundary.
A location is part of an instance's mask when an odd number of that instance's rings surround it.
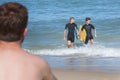
<svg viewBox="0 0 120 80">
<path fill-rule="evenodd" d="M 74 42 L 74 33 L 75 30 L 78 29 L 77 25 L 75 23 L 68 23 L 66 24 L 65 29 L 68 29 L 67 40 Z"/>
</svg>

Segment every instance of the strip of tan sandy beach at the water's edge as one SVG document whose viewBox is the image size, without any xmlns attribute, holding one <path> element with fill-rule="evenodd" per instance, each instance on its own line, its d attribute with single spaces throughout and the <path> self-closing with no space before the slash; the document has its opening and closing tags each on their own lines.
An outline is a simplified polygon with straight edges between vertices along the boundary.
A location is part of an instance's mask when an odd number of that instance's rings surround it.
<svg viewBox="0 0 120 80">
<path fill-rule="evenodd" d="M 120 80 L 120 73 L 52 69 L 58 80 Z"/>
</svg>

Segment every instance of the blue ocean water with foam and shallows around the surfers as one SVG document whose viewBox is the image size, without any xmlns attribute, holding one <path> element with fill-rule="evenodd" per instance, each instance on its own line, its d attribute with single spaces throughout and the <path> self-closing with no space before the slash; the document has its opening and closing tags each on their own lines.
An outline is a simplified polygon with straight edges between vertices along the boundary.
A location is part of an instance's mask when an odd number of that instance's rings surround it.
<svg viewBox="0 0 120 80">
<path fill-rule="evenodd" d="M 1 0 L 0 4 L 8 1 L 29 10 L 23 48 L 42 56 L 51 67 L 120 72 L 119 0 Z M 75 17 L 78 27 L 91 17 L 97 29 L 94 45 L 83 46 L 76 39 L 75 47 L 67 48 L 63 30 L 70 17 Z"/>
</svg>

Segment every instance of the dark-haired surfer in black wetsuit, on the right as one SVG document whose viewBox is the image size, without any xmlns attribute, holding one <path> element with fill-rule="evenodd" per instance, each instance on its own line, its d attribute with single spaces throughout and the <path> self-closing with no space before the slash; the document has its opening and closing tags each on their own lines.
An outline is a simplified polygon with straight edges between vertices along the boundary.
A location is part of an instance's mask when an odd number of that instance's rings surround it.
<svg viewBox="0 0 120 80">
<path fill-rule="evenodd" d="M 82 27 L 82 30 L 85 29 L 86 30 L 86 34 L 87 34 L 86 40 L 85 40 L 85 44 L 88 44 L 89 40 L 90 40 L 91 44 L 94 43 L 94 41 L 93 41 L 94 38 L 93 38 L 93 35 L 92 35 L 92 29 L 94 30 L 94 37 L 96 37 L 96 29 L 95 29 L 95 27 L 92 24 L 90 24 L 90 20 L 91 20 L 91 18 L 87 17 L 85 19 L 86 24 L 83 25 L 83 27 Z"/>
</svg>

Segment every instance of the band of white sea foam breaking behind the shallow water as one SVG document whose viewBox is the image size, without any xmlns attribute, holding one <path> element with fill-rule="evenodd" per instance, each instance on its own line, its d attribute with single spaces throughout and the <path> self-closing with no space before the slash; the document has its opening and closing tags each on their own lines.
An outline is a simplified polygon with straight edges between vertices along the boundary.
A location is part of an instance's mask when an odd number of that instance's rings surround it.
<svg viewBox="0 0 120 80">
<path fill-rule="evenodd" d="M 59 48 L 59 49 L 43 49 L 43 50 L 28 50 L 36 55 L 50 55 L 50 56 L 68 56 L 68 55 L 82 55 L 85 57 L 120 57 L 119 48 L 107 48 L 100 45 L 94 46 L 80 46 L 75 48 Z"/>
</svg>

